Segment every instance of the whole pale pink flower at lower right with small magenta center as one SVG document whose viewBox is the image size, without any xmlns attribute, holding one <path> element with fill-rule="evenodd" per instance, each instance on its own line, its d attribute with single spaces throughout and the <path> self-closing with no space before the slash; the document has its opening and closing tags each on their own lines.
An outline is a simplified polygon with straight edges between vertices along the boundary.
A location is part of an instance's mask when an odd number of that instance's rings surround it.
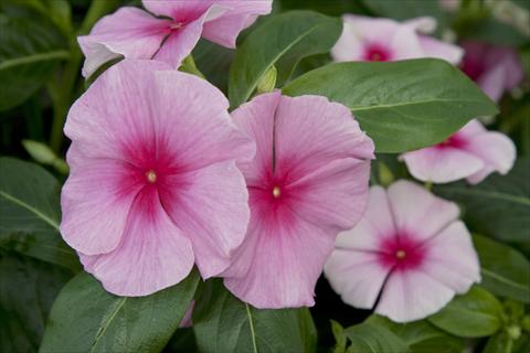
<svg viewBox="0 0 530 353">
<path fill-rule="evenodd" d="M 398 181 L 370 189 L 368 210 L 341 233 L 325 275 L 342 300 L 396 322 L 423 319 L 480 281 L 456 204 Z M 379 300 L 378 300 L 379 298 Z"/>
</svg>

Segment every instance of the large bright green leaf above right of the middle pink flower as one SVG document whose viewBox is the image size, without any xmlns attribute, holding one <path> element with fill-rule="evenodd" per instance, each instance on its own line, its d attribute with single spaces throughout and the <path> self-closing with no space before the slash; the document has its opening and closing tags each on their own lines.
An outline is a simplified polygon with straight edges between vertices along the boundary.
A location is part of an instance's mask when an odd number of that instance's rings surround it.
<svg viewBox="0 0 530 353">
<path fill-rule="evenodd" d="M 404 152 L 443 141 L 467 121 L 497 113 L 458 68 L 442 60 L 336 63 L 283 89 L 320 95 L 349 107 L 378 152 Z"/>
</svg>

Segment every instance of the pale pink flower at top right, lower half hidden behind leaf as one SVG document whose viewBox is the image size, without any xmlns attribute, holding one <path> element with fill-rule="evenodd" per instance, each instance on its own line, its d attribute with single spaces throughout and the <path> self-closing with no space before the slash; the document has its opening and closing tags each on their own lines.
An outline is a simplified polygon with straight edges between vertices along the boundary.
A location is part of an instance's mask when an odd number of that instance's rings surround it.
<svg viewBox="0 0 530 353">
<path fill-rule="evenodd" d="M 343 30 L 331 50 L 335 61 L 386 62 L 415 57 L 439 57 L 457 64 L 462 49 L 418 33 L 436 28 L 432 18 L 417 18 L 403 23 L 390 19 L 373 19 L 344 14 Z"/>
</svg>

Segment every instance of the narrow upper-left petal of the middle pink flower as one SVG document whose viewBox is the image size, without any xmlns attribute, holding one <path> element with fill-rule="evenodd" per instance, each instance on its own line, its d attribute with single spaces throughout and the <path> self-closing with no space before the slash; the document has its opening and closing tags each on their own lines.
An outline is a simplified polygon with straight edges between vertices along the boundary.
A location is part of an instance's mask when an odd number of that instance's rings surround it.
<svg viewBox="0 0 530 353">
<path fill-rule="evenodd" d="M 274 116 L 280 95 L 279 90 L 259 95 L 232 111 L 237 127 L 256 142 L 255 159 L 239 163 L 250 186 L 261 184 L 262 175 L 272 170 Z"/>
</svg>

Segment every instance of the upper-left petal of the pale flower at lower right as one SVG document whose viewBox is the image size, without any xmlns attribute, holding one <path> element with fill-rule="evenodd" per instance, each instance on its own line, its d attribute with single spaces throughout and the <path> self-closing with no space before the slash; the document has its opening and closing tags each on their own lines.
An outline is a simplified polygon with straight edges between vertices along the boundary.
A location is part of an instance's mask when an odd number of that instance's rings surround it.
<svg viewBox="0 0 530 353">
<path fill-rule="evenodd" d="M 364 215 L 353 228 L 339 234 L 336 248 L 379 252 L 383 238 L 395 232 L 386 191 L 381 186 L 372 186 Z"/>
</svg>

